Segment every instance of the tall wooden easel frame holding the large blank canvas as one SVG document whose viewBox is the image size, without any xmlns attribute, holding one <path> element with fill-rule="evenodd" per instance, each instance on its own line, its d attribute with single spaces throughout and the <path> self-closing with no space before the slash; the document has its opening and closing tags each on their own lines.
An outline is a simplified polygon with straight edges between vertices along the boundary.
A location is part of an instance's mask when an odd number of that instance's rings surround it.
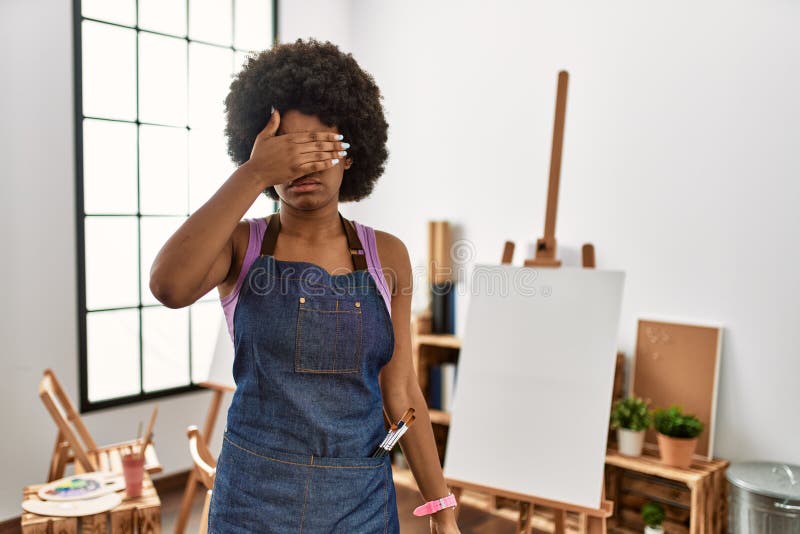
<svg viewBox="0 0 800 534">
<path fill-rule="evenodd" d="M 550 154 L 550 181 L 547 194 L 547 215 L 545 217 L 544 237 L 536 241 L 536 256 L 525 260 L 526 267 L 560 267 L 561 261 L 556 259 L 556 213 L 558 208 L 558 187 L 561 174 L 561 153 L 564 145 L 564 119 L 567 109 L 567 84 L 569 74 L 567 71 L 558 73 L 558 89 L 556 91 L 556 112 L 553 125 L 553 147 Z M 514 256 L 514 243 L 506 241 L 503 246 L 501 264 L 511 264 Z M 585 268 L 594 268 L 594 246 L 586 243 L 582 247 L 582 265 Z M 533 512 L 536 506 L 552 509 L 553 531 L 564 534 L 566 528 L 567 512 L 578 514 L 578 531 L 590 534 L 606 534 L 607 519 L 614 512 L 614 503 L 605 498 L 605 483 L 601 490 L 601 504 L 599 508 L 587 508 L 570 503 L 546 499 L 535 495 L 526 495 L 500 488 L 484 486 L 472 482 L 445 477 L 445 481 L 456 500 L 461 500 L 464 490 L 476 491 L 491 498 L 492 507 L 496 507 L 497 499 L 511 499 L 519 503 L 519 520 L 517 532 L 531 534 L 533 532 Z M 458 514 L 459 508 L 456 508 Z"/>
</svg>

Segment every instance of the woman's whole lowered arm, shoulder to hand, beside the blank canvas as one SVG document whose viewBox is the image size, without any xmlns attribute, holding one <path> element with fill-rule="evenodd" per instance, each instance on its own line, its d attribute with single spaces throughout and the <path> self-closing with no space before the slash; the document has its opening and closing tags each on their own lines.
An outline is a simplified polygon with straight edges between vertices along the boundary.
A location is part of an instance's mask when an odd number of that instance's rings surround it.
<svg viewBox="0 0 800 534">
<path fill-rule="evenodd" d="M 408 408 L 415 409 L 416 420 L 400 439 L 400 447 L 423 499 L 430 501 L 447 496 L 449 490 L 439 463 L 428 406 L 411 360 L 411 262 L 402 241 L 385 232 L 375 234 L 381 265 L 387 271 L 392 288 L 395 336 L 394 354 L 380 375 L 384 408 L 393 422 L 400 419 Z M 436 512 L 431 519 L 437 533 L 459 532 L 453 508 Z"/>
</svg>

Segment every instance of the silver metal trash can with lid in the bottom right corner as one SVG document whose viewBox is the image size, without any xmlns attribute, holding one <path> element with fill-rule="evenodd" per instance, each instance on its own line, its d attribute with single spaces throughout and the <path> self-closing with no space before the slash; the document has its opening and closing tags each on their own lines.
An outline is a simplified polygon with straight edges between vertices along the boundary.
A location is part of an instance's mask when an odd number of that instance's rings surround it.
<svg viewBox="0 0 800 534">
<path fill-rule="evenodd" d="M 728 532 L 800 534 L 800 467 L 771 462 L 732 464 Z"/>
</svg>

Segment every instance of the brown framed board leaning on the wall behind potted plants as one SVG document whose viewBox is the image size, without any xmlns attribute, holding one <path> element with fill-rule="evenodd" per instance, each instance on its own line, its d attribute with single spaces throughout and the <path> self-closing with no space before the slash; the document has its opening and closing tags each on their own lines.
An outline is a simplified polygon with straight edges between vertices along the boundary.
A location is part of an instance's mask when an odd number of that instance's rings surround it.
<svg viewBox="0 0 800 534">
<path fill-rule="evenodd" d="M 705 425 L 697 454 L 714 455 L 714 412 L 722 351 L 722 328 L 639 320 L 631 390 L 654 408 L 678 404 Z M 655 447 L 649 430 L 645 443 Z"/>
</svg>

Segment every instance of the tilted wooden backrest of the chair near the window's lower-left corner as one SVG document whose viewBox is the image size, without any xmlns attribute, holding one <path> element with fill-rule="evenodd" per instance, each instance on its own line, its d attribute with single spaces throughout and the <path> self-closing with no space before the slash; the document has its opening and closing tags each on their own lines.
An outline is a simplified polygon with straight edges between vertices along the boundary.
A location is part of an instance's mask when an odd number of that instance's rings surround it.
<svg viewBox="0 0 800 534">
<path fill-rule="evenodd" d="M 72 448 L 75 460 L 86 471 L 97 469 L 92 459 L 97 444 L 52 369 L 45 369 L 44 377 L 39 382 L 39 398 Z"/>
</svg>

